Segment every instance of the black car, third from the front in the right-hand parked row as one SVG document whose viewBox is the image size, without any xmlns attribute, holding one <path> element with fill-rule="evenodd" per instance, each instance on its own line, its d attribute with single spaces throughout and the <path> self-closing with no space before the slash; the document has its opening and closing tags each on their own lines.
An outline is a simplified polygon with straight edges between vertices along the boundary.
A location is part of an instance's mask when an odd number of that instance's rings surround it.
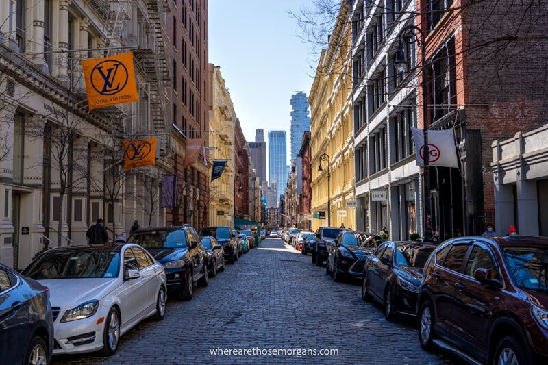
<svg viewBox="0 0 548 365">
<path fill-rule="evenodd" d="M 382 242 L 379 236 L 355 231 L 341 231 L 336 240 L 327 243 L 325 273 L 334 281 L 344 276 L 362 277 L 367 255 Z"/>
</svg>

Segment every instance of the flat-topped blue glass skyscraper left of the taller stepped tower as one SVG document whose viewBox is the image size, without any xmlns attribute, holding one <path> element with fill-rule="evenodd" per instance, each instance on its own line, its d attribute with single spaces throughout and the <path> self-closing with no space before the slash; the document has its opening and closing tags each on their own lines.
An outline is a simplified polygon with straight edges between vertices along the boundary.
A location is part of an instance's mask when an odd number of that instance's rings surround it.
<svg viewBox="0 0 548 365">
<path fill-rule="evenodd" d="M 269 131 L 269 181 L 276 184 L 280 197 L 287 185 L 286 131 Z"/>
</svg>

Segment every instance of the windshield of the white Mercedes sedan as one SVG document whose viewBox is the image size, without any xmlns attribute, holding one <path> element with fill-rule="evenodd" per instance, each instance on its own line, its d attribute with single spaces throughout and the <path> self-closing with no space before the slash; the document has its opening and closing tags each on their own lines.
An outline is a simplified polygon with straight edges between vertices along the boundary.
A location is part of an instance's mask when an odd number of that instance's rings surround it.
<svg viewBox="0 0 548 365">
<path fill-rule="evenodd" d="M 97 279 L 118 277 L 119 251 L 48 251 L 23 275 L 34 280 Z"/>
</svg>

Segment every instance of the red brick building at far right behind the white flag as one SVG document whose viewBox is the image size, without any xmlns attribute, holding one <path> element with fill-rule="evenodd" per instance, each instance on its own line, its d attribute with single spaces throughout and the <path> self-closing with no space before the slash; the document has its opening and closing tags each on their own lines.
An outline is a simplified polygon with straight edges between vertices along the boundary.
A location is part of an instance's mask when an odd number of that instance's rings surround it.
<svg viewBox="0 0 548 365">
<path fill-rule="evenodd" d="M 462 4 L 416 2 L 421 10 L 416 25 L 427 35 L 429 129 L 453 128 L 460 152 L 460 168 L 431 168 L 432 228 L 442 238 L 453 236 L 456 229 L 482 234 L 486 223 L 495 222 L 491 144 L 544 125 L 548 112 L 545 92 L 539 92 L 547 90 L 548 47 L 546 42 L 524 40 L 548 29 L 548 20 L 538 16 L 547 1 L 534 9 L 510 0 Z M 516 29 L 516 40 L 499 38 L 508 29 Z M 418 95 L 422 105 L 420 87 Z M 421 127 L 422 114 L 419 108 Z M 508 192 L 506 197 L 519 207 L 516 194 Z M 499 234 L 508 231 L 496 229 Z"/>
</svg>

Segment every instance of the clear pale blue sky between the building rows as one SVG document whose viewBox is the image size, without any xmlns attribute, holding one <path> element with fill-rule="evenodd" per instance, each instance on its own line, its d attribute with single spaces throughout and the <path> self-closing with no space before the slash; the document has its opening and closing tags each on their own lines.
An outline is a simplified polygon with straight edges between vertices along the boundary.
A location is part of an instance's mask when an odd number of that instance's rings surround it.
<svg viewBox="0 0 548 365">
<path fill-rule="evenodd" d="M 265 135 L 289 131 L 291 95 L 310 92 L 309 47 L 295 36 L 297 23 L 287 14 L 303 3 L 310 1 L 209 1 L 209 62 L 221 66 L 250 142 L 258 128 Z M 289 158 L 289 133 L 287 143 Z"/>
</svg>

